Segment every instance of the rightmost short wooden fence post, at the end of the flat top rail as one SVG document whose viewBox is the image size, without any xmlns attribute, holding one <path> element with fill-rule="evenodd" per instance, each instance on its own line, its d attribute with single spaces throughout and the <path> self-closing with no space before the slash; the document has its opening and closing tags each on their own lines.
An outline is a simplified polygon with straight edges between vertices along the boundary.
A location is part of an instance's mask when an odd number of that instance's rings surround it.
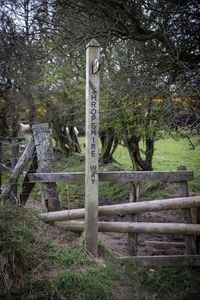
<svg viewBox="0 0 200 300">
<path fill-rule="evenodd" d="M 178 166 L 178 171 L 186 171 L 185 166 Z M 189 197 L 189 189 L 188 189 L 188 183 L 187 181 L 180 181 L 179 182 L 179 193 L 180 197 Z M 185 208 L 183 209 L 183 214 L 185 217 L 185 220 L 187 223 L 192 223 L 192 215 L 191 215 L 191 209 Z M 186 242 L 186 252 L 187 254 L 196 254 L 196 245 L 195 245 L 195 237 L 193 236 L 186 236 L 185 237 Z"/>
</svg>

